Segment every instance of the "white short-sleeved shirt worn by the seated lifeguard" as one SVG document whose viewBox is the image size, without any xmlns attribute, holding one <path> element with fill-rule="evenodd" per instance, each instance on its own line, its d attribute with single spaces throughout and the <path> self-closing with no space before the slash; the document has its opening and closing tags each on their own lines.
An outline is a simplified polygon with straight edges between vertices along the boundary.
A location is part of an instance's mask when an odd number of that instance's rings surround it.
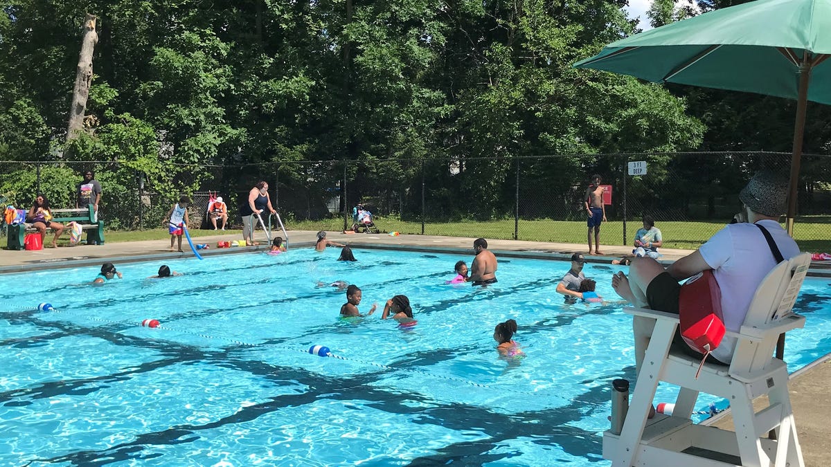
<svg viewBox="0 0 831 467">
<path fill-rule="evenodd" d="M 768 229 L 785 259 L 799 254 L 799 246 L 774 220 L 760 220 Z M 714 269 L 721 289 L 721 312 L 727 331 L 738 332 L 750 307 L 750 301 L 765 276 L 776 266 L 774 254 L 765 235 L 754 224 L 730 224 L 699 248 L 701 257 Z M 735 338 L 725 337 L 712 355 L 729 363 L 735 350 Z"/>
</svg>

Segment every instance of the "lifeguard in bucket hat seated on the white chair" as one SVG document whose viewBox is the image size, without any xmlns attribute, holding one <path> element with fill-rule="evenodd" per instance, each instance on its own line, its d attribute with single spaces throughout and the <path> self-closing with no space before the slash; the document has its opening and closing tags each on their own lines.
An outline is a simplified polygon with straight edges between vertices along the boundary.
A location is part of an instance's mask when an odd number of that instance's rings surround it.
<svg viewBox="0 0 831 467">
<path fill-rule="evenodd" d="M 678 281 L 697 273 L 713 270 L 721 290 L 721 310 L 727 331 L 738 332 L 750 307 L 750 301 L 765 276 L 776 266 L 774 247 L 784 259 L 799 254 L 799 246 L 779 225 L 785 210 L 788 180 L 771 172 L 760 172 L 741 190 L 739 199 L 747 214 L 747 223 L 730 224 L 718 231 L 695 252 L 672 263 L 666 270 L 652 258 L 634 258 L 629 278 L 622 272 L 612 277 L 612 288 L 636 307 L 678 313 L 681 285 Z M 765 234 L 765 231 L 767 234 Z M 770 235 L 770 238 L 766 238 Z M 655 320 L 635 317 L 635 365 L 641 371 L 644 353 Z M 733 358 L 735 337 L 724 337 L 712 356 L 725 364 Z M 688 348 L 676 334 L 673 346 Z"/>
</svg>

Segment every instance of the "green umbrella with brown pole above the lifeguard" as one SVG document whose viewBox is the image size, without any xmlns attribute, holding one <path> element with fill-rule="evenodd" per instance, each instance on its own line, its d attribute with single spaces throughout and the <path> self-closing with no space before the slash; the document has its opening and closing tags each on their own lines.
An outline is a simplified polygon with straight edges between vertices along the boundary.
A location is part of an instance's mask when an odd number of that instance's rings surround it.
<svg viewBox="0 0 831 467">
<path fill-rule="evenodd" d="M 794 234 L 807 101 L 831 104 L 831 0 L 756 0 L 603 47 L 577 68 L 796 99 L 788 233 Z"/>
</svg>

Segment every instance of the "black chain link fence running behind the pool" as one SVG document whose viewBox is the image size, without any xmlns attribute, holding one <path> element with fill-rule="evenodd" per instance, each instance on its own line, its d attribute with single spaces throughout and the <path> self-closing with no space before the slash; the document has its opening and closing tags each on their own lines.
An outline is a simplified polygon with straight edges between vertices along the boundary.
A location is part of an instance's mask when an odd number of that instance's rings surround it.
<svg viewBox="0 0 831 467">
<path fill-rule="evenodd" d="M 630 175 L 630 163 L 641 175 Z M 111 161 L 0 161 L 0 195 L 28 207 L 42 193 L 55 208 L 74 207 L 81 174 L 104 190 L 109 229 L 163 225 L 180 194 L 194 205 L 192 228 L 207 228 L 209 192 L 224 197 L 231 226 L 253 185 L 269 184 L 289 229 L 350 230 L 363 204 L 379 229 L 402 234 L 586 243 L 588 180 L 608 186 L 602 243 L 629 244 L 649 215 L 668 248 L 697 248 L 740 210 L 738 194 L 756 170 L 787 179 L 785 153 L 548 155 L 425 160 L 274 161 L 258 165 L 182 165 L 150 169 Z M 794 236 L 805 251 L 831 245 L 831 156 L 804 155 Z"/>
</svg>

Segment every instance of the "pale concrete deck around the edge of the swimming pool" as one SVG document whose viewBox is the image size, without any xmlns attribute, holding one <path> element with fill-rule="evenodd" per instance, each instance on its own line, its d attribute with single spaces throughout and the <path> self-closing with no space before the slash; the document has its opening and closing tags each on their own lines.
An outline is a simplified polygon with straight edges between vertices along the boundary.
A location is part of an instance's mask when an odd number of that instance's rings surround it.
<svg viewBox="0 0 831 467">
<path fill-rule="evenodd" d="M 314 244 L 316 232 L 290 231 L 289 248 L 308 248 Z M 194 238 L 194 243 L 208 243 L 210 248 L 200 250 L 203 256 L 216 254 L 244 253 L 268 250 L 263 233 L 258 232 L 258 247 L 215 248 L 220 240 L 238 240 L 239 234 L 218 234 Z M 460 258 L 473 258 L 474 237 L 439 237 L 432 235 L 400 235 L 391 237 L 387 234 L 342 234 L 330 232 L 327 238 L 338 243 L 347 243 L 354 247 L 366 246 L 369 248 L 407 248 L 435 253 L 455 253 Z M 489 249 L 497 256 L 568 259 L 572 253 L 585 254 L 586 245 L 572 243 L 529 242 L 517 240 L 488 240 Z M 111 261 L 119 266 L 121 263 L 137 261 L 170 261 L 178 258 L 193 256 L 187 245 L 184 253 L 171 253 L 170 239 L 165 236 L 158 240 L 137 242 L 105 243 L 103 245 L 79 245 L 75 247 L 45 248 L 37 251 L 0 252 L 0 273 L 19 273 L 52 268 L 100 266 L 101 263 Z M 590 263 L 609 263 L 613 258 L 620 258 L 624 253 L 632 251 L 632 247 L 620 245 L 603 246 L 604 256 L 586 255 Z M 464 250 L 464 251 L 460 251 Z M 691 250 L 661 248 L 661 261 L 671 263 L 677 258 L 685 256 Z M 360 259 L 360 258 L 359 258 Z M 831 262 L 829 262 L 831 263 Z M 452 265 L 448 265 L 450 269 Z M 565 273 L 553 272 L 553 278 Z M 811 274 L 831 277 L 831 268 L 822 263 L 812 264 Z M 810 323 L 810 322 L 809 322 Z M 812 365 L 797 371 L 791 376 L 789 392 L 791 404 L 799 434 L 800 445 L 804 455 L 805 465 L 831 465 L 831 452 L 825 447 L 825 442 L 831 436 L 828 420 L 831 420 L 831 399 L 827 396 L 828 381 L 831 381 L 831 360 L 823 357 Z M 732 429 L 730 416 L 720 416 L 714 425 Z"/>
</svg>

